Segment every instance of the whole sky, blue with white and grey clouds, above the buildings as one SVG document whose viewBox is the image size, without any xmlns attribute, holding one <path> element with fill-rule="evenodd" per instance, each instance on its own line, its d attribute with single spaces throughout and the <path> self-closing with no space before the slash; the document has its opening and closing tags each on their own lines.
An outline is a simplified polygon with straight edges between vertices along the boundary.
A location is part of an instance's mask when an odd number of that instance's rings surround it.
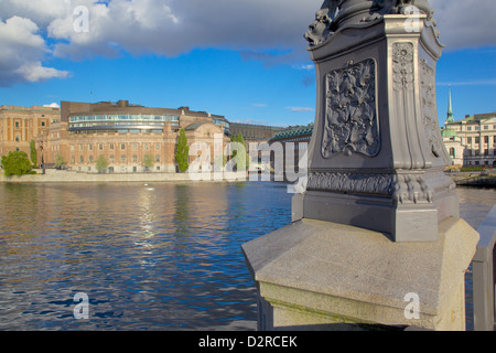
<svg viewBox="0 0 496 353">
<path fill-rule="evenodd" d="M 436 75 L 441 122 L 449 87 L 455 118 L 496 111 L 496 1 L 430 2 L 446 45 Z M 321 3 L 0 0 L 0 105 L 128 99 L 305 125 L 314 120 L 315 71 L 303 33 Z M 89 10 L 87 32 L 74 30 L 77 6 Z"/>
</svg>

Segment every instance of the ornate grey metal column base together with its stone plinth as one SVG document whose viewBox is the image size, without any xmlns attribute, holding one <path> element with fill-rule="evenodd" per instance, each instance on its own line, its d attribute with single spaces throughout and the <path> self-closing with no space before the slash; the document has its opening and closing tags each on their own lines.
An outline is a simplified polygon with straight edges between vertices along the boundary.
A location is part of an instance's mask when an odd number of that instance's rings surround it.
<svg viewBox="0 0 496 353">
<path fill-rule="evenodd" d="M 443 173 L 429 1 L 326 0 L 305 38 L 317 78 L 306 191 L 293 225 L 242 246 L 259 329 L 464 330 L 478 234 Z"/>
</svg>

